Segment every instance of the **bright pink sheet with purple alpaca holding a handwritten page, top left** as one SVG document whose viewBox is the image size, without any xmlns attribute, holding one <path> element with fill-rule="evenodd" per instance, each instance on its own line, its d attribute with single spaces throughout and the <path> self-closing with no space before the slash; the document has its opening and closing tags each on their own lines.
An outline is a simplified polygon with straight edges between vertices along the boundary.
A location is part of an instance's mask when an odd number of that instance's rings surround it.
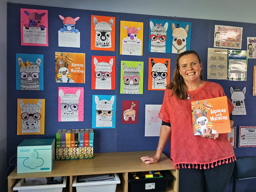
<svg viewBox="0 0 256 192">
<path fill-rule="evenodd" d="M 48 10 L 20 9 L 21 45 L 48 46 Z"/>
</svg>

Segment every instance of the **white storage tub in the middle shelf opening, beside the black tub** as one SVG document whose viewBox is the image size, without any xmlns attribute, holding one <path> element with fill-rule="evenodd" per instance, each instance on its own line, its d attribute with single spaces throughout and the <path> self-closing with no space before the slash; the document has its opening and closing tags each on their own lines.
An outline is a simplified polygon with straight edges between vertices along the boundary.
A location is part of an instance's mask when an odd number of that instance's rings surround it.
<svg viewBox="0 0 256 192">
<path fill-rule="evenodd" d="M 116 184 L 120 183 L 118 174 L 114 173 L 116 180 L 111 181 L 94 181 L 79 182 L 78 176 L 75 176 L 72 186 L 76 187 L 76 192 L 93 191 L 93 192 L 115 192 Z"/>
</svg>

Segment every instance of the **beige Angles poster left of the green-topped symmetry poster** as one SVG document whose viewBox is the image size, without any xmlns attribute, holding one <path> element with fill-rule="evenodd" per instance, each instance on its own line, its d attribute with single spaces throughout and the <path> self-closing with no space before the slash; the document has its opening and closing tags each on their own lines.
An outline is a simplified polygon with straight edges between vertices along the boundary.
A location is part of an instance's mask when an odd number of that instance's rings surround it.
<svg viewBox="0 0 256 192">
<path fill-rule="evenodd" d="M 227 49 L 208 48 L 207 79 L 227 79 Z"/>
</svg>

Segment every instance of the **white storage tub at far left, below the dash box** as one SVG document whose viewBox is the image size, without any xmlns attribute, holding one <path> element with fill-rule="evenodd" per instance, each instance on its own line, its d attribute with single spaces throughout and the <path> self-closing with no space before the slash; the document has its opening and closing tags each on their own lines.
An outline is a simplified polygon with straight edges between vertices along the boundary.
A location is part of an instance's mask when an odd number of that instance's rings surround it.
<svg viewBox="0 0 256 192">
<path fill-rule="evenodd" d="M 31 185 L 24 186 L 25 179 L 20 179 L 18 183 L 13 187 L 13 191 L 18 192 L 62 192 L 62 189 L 66 187 L 67 177 L 64 177 L 62 184 L 53 184 L 53 185 Z"/>
</svg>

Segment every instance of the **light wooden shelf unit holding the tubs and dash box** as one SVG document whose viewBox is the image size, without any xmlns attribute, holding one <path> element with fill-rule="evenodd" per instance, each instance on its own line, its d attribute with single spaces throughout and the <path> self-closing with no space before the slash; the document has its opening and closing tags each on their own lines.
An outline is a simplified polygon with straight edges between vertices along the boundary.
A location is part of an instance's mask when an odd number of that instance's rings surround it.
<svg viewBox="0 0 256 192">
<path fill-rule="evenodd" d="M 135 151 L 135 152 L 114 152 L 114 153 L 94 153 L 93 159 L 80 159 L 72 161 L 55 161 L 50 172 L 17 173 L 15 168 L 8 176 L 8 192 L 21 178 L 34 177 L 56 177 L 67 176 L 69 191 L 72 188 L 73 177 L 76 175 L 118 173 L 121 184 L 117 184 L 116 192 L 128 192 L 128 173 L 139 171 L 170 170 L 173 183 L 167 188 L 167 192 L 178 192 L 178 170 L 175 170 L 173 161 L 162 154 L 158 163 L 145 164 L 140 160 L 142 156 L 153 156 L 155 151 Z M 63 191 L 68 191 L 64 188 Z"/>
</svg>

